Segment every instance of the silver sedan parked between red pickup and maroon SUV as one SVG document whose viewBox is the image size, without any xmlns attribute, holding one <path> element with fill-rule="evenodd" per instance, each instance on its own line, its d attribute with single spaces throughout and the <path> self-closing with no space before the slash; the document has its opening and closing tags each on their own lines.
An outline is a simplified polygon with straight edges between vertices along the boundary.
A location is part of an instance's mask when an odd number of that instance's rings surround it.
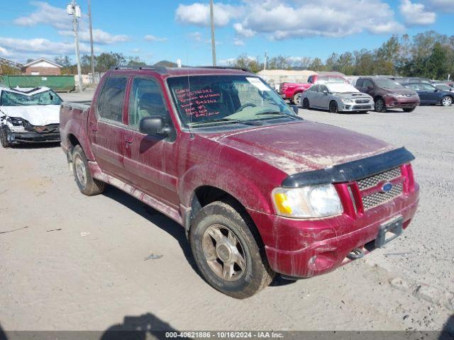
<svg viewBox="0 0 454 340">
<path fill-rule="evenodd" d="M 311 86 L 302 94 L 303 108 L 321 108 L 331 113 L 367 112 L 374 109 L 374 99 L 355 86 L 326 83 Z"/>
</svg>

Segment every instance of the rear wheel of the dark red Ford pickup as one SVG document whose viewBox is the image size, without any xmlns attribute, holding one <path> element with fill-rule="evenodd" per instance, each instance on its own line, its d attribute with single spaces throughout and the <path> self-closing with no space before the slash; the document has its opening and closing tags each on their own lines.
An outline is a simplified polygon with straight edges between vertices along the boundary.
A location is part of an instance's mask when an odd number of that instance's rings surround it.
<svg viewBox="0 0 454 340">
<path fill-rule="evenodd" d="M 76 145 L 72 151 L 72 172 L 79 191 L 87 196 L 94 196 L 102 193 L 106 183 L 92 177 L 88 167 L 87 157 L 80 145 Z"/>
</svg>

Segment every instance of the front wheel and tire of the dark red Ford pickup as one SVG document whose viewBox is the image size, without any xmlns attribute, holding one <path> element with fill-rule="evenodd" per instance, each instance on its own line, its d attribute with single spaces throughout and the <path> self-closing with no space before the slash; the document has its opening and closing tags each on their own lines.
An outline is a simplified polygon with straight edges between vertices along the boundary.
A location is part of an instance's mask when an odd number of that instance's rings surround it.
<svg viewBox="0 0 454 340">
<path fill-rule="evenodd" d="M 189 242 L 196 265 L 209 285 L 244 299 L 271 283 L 275 273 L 265 254 L 260 253 L 254 231 L 253 222 L 235 203 L 216 201 L 201 208 L 189 232 Z"/>
</svg>

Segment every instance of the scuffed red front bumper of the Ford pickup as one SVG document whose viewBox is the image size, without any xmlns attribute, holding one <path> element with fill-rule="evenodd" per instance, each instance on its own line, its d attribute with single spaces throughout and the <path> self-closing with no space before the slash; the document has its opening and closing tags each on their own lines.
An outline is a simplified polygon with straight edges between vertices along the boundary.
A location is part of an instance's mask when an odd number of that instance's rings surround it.
<svg viewBox="0 0 454 340">
<path fill-rule="evenodd" d="M 297 220 L 248 210 L 258 225 L 273 271 L 292 278 L 309 278 L 333 271 L 351 260 L 347 255 L 360 248 L 374 249 L 380 225 L 402 216 L 408 227 L 419 202 L 419 188 L 410 194 L 367 210 L 352 218 L 345 213 L 319 220 Z"/>
</svg>

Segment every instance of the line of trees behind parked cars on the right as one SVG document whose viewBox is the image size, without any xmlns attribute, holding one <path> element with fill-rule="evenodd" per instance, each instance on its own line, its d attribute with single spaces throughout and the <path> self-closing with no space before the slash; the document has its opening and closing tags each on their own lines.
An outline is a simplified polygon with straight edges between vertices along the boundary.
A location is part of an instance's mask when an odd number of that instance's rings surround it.
<svg viewBox="0 0 454 340">
<path fill-rule="evenodd" d="M 259 72 L 264 64 L 260 57 L 240 55 L 231 67 Z M 393 35 L 376 50 L 332 53 L 326 60 L 309 57 L 271 57 L 267 69 L 311 69 L 336 71 L 346 75 L 393 74 L 402 77 L 450 79 L 454 74 L 454 35 L 427 31 L 413 37 Z"/>
</svg>

